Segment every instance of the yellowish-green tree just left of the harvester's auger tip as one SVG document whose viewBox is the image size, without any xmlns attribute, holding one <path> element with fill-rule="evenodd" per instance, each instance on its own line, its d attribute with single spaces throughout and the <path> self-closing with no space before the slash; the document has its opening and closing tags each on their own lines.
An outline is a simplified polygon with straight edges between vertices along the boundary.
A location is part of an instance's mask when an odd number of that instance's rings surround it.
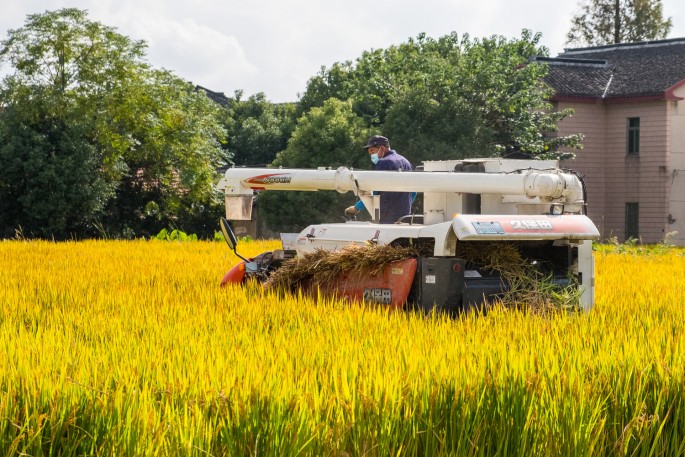
<svg viewBox="0 0 685 457">
<path fill-rule="evenodd" d="M 167 71 L 148 70 L 113 107 L 114 141 L 127 142 L 101 224 L 117 236 L 151 236 L 163 227 L 211 236 L 223 210 L 216 169 L 230 155 L 221 149 L 221 108 L 192 84 Z M 122 133 L 125 135 L 122 137 Z"/>
</svg>

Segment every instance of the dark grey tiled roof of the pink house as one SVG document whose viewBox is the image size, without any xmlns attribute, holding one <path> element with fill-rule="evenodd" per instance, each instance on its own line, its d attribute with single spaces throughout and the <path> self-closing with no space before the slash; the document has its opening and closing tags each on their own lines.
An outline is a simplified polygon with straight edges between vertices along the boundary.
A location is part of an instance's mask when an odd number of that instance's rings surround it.
<svg viewBox="0 0 685 457">
<path fill-rule="evenodd" d="M 676 99 L 685 84 L 685 38 L 565 49 L 556 58 L 537 57 L 549 65 L 545 81 L 553 99 Z"/>
</svg>

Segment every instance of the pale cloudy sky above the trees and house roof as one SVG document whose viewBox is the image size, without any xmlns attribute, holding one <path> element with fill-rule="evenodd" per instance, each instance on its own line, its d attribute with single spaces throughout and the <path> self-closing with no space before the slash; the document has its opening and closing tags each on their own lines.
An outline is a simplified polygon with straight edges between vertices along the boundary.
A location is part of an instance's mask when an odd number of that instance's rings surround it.
<svg viewBox="0 0 685 457">
<path fill-rule="evenodd" d="M 669 38 L 685 37 L 685 1 L 662 4 L 673 19 Z M 576 0 L 9 0 L 0 39 L 28 14 L 66 7 L 145 40 L 155 67 L 227 95 L 264 92 L 274 102 L 297 100 L 322 66 L 422 32 L 513 38 L 529 29 L 556 55 L 579 10 Z"/>
</svg>

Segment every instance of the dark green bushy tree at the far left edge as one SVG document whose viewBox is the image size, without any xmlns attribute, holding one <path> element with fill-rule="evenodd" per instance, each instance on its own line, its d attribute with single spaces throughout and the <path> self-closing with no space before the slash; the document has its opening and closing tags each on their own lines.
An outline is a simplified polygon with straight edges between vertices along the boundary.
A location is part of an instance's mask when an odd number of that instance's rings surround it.
<svg viewBox="0 0 685 457">
<path fill-rule="evenodd" d="M 28 95 L 28 94 L 27 94 Z M 41 106 L 33 106 L 32 97 Z M 0 109 L 0 236 L 65 237 L 88 230 L 114 195 L 80 116 L 57 113 L 49 91 L 17 94 Z"/>
</svg>

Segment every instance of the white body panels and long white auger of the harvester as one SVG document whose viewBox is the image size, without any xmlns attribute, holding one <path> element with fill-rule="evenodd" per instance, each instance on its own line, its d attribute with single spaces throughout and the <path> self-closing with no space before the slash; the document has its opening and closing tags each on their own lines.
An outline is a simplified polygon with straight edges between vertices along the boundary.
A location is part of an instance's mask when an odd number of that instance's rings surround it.
<svg viewBox="0 0 685 457">
<path fill-rule="evenodd" d="M 594 303 L 592 241 L 599 231 L 584 215 L 584 187 L 556 161 L 468 159 L 427 161 L 422 171 L 230 168 L 219 183 L 226 217 L 251 219 L 255 191 L 353 192 L 374 221 L 380 207 L 374 191 L 423 194 L 423 223 L 347 222 L 310 225 L 284 241 L 297 252 L 339 249 L 350 243 L 390 244 L 433 240 L 435 257 L 454 256 L 458 242 L 548 241 L 576 253 L 569 273 L 582 288 L 581 306 Z"/>
</svg>

